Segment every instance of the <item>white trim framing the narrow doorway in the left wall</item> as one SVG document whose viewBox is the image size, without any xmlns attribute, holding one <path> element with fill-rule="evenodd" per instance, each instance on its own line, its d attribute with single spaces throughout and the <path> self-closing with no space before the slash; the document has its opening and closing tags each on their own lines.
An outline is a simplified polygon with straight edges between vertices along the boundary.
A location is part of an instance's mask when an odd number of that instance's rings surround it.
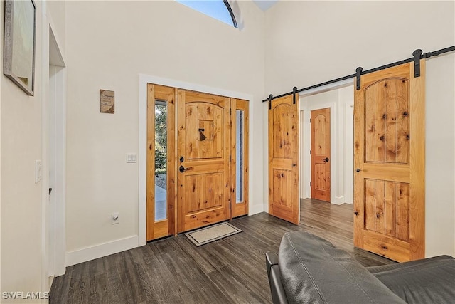
<svg viewBox="0 0 455 304">
<path fill-rule="evenodd" d="M 47 12 L 46 2 L 41 6 L 41 157 L 43 179 L 41 184 L 41 288 L 50 290 L 49 256 L 50 256 L 50 226 L 55 231 L 52 249 L 55 259 L 52 275 L 59 276 L 65 273 L 65 169 L 66 169 L 66 69 L 65 58 L 61 52 L 58 36 L 55 32 L 55 23 Z M 50 56 L 53 63 L 62 65 L 55 73 L 55 83 L 50 87 Z M 53 81 L 54 81 L 53 80 Z M 50 98 L 54 98 L 55 107 L 50 108 Z M 55 209 L 49 204 L 49 117 L 50 111 L 55 111 Z M 57 191 L 57 189 L 59 189 Z M 50 216 L 50 212 L 53 215 Z M 51 241 L 52 242 L 52 241 Z"/>
</svg>

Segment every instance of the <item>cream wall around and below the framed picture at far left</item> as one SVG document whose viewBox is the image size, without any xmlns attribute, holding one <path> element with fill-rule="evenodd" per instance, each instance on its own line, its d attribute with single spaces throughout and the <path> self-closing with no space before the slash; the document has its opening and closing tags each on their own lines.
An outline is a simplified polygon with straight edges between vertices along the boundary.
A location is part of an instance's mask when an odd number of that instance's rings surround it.
<svg viewBox="0 0 455 304">
<path fill-rule="evenodd" d="M 41 29 L 36 1 L 35 96 L 26 95 L 1 73 L 1 292 L 41 290 L 41 182 L 35 183 L 35 160 L 41 159 Z M 1 30 L 4 5 L 1 5 Z M 1 39 L 3 58 L 3 39 Z M 1 65 L 3 68 L 3 65 Z"/>
</svg>

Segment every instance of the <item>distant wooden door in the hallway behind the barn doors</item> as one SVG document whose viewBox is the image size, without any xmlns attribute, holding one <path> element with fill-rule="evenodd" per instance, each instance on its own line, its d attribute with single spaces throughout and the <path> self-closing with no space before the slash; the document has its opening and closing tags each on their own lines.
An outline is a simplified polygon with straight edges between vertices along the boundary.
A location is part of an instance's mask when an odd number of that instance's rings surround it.
<svg viewBox="0 0 455 304">
<path fill-rule="evenodd" d="M 330 108 L 311 111 L 311 199 L 330 201 Z"/>
</svg>

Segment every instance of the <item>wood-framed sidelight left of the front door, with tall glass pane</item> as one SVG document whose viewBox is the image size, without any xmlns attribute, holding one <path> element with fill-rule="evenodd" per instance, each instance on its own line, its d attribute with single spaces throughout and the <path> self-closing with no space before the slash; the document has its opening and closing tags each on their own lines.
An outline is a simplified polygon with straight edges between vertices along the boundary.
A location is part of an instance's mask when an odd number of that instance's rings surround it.
<svg viewBox="0 0 455 304">
<path fill-rule="evenodd" d="M 147 241 L 174 234 L 176 218 L 175 165 L 175 99 L 176 89 L 163 85 L 147 85 L 147 177 L 146 229 Z M 156 105 L 165 107 L 166 115 L 166 174 L 156 176 Z M 161 147 L 162 148 L 162 147 Z M 165 175 L 165 185 L 156 183 Z"/>
</svg>

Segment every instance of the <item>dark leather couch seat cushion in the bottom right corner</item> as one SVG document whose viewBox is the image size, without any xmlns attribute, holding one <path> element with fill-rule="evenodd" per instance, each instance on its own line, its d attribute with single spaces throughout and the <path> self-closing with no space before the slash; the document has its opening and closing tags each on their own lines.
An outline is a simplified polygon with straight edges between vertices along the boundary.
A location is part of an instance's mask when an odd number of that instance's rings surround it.
<svg viewBox="0 0 455 304">
<path fill-rule="evenodd" d="M 451 256 L 367 269 L 407 303 L 455 303 L 455 259 Z"/>
</svg>

